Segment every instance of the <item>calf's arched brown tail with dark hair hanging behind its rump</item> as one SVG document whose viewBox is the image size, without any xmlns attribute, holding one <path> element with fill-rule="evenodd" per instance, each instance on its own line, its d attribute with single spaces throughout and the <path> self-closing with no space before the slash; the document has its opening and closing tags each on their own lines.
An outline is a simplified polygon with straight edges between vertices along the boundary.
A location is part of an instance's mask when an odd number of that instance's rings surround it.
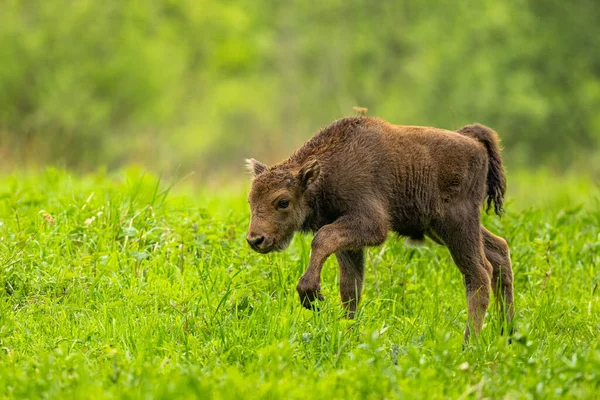
<svg viewBox="0 0 600 400">
<path fill-rule="evenodd" d="M 506 175 L 502 165 L 502 156 L 500 155 L 498 134 L 493 129 L 481 124 L 463 126 L 457 132 L 473 138 L 485 146 L 489 156 L 486 212 L 489 212 L 493 205 L 494 212 L 501 216 L 504 212 Z"/>
</svg>

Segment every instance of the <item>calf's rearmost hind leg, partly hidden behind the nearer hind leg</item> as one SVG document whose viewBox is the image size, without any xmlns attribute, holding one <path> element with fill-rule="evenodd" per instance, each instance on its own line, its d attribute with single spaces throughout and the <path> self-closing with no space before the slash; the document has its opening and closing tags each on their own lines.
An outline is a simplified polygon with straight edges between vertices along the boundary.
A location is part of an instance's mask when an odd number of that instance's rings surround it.
<svg viewBox="0 0 600 400">
<path fill-rule="evenodd" d="M 510 251 L 506 240 L 496 236 L 485 227 L 481 227 L 485 257 L 492 264 L 492 289 L 496 295 L 496 304 L 501 315 L 506 318 L 509 329 L 515 313 L 513 299 L 513 271 Z"/>
</svg>

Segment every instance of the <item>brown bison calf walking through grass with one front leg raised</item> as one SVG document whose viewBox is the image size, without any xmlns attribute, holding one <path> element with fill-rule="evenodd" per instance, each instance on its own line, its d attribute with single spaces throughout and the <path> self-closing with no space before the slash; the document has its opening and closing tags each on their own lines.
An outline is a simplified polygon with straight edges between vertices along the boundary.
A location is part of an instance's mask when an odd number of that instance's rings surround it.
<svg viewBox="0 0 600 400">
<path fill-rule="evenodd" d="M 315 232 L 310 263 L 298 282 L 302 305 L 320 294 L 331 254 L 340 267 L 347 315 L 360 301 L 365 247 L 389 231 L 448 247 L 464 277 L 469 327 L 477 334 L 493 289 L 510 323 L 513 274 L 506 241 L 480 223 L 480 209 L 502 213 L 506 178 L 496 133 L 483 125 L 457 132 L 343 118 L 273 166 L 248 160 L 254 178 L 247 240 L 259 253 L 285 249 L 294 232 Z M 502 303 L 500 303 L 502 304 Z"/>
</svg>

